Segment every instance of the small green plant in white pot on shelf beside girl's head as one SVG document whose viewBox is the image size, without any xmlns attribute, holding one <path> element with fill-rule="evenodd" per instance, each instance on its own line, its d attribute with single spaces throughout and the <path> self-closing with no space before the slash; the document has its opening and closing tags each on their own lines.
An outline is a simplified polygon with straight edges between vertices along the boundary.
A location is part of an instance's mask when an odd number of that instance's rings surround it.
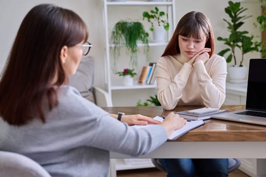
<svg viewBox="0 0 266 177">
<path fill-rule="evenodd" d="M 169 30 L 168 14 L 155 7 L 155 10 L 151 10 L 150 13 L 143 12 L 142 17 L 151 24 L 149 30 L 153 31 L 154 42 L 165 41 L 165 31 Z"/>
</svg>

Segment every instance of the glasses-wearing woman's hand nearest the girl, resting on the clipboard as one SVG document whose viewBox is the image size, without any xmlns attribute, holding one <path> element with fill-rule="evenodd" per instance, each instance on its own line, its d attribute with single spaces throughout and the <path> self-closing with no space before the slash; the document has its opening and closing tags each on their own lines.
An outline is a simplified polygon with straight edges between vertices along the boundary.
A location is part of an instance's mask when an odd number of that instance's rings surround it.
<svg viewBox="0 0 266 177">
<path fill-rule="evenodd" d="M 161 125 L 167 131 L 167 137 L 170 137 L 172 132 L 176 129 L 182 128 L 186 123 L 186 120 L 179 116 L 179 114 L 175 114 L 170 112 L 168 116 L 164 119 Z"/>
</svg>

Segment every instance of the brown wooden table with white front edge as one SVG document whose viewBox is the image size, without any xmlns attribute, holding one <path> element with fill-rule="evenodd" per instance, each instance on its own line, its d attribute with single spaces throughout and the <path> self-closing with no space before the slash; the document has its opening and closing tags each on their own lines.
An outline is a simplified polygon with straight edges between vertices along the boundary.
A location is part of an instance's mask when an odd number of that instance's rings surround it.
<svg viewBox="0 0 266 177">
<path fill-rule="evenodd" d="M 200 108 L 179 106 L 172 111 Z M 244 105 L 224 105 L 221 109 L 236 111 Z M 149 117 L 166 116 L 162 107 L 106 107 L 109 113 L 143 114 Z M 182 137 L 167 141 L 155 151 L 138 158 L 266 158 L 266 126 L 209 119 Z M 110 158 L 132 158 L 110 152 Z M 113 167 L 111 167 L 113 168 Z"/>
</svg>

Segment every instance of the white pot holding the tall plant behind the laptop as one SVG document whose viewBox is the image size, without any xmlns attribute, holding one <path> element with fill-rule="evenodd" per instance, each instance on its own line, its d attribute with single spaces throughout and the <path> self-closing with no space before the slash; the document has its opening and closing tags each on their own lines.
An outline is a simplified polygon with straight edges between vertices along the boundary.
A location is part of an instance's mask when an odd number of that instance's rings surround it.
<svg viewBox="0 0 266 177">
<path fill-rule="evenodd" d="M 248 68 L 246 66 L 230 66 L 227 68 L 228 76 L 231 82 L 245 81 Z"/>
</svg>

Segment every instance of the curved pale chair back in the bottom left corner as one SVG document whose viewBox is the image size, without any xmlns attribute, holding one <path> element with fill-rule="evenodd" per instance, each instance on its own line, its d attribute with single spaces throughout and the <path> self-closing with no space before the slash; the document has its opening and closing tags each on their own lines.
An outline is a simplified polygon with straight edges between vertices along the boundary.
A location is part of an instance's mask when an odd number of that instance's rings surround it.
<svg viewBox="0 0 266 177">
<path fill-rule="evenodd" d="M 3 177 L 51 177 L 34 160 L 13 152 L 0 151 L 0 176 Z"/>
</svg>

